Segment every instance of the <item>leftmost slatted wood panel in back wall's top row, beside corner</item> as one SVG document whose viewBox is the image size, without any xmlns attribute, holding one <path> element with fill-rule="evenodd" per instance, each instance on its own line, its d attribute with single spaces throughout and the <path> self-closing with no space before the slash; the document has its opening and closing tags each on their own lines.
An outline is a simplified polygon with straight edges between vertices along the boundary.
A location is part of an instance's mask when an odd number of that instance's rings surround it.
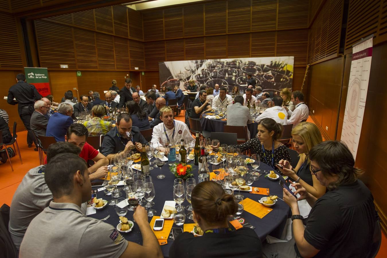
<svg viewBox="0 0 387 258">
<path fill-rule="evenodd" d="M 144 40 L 164 39 L 163 11 L 144 12 L 142 14 Z"/>
</svg>

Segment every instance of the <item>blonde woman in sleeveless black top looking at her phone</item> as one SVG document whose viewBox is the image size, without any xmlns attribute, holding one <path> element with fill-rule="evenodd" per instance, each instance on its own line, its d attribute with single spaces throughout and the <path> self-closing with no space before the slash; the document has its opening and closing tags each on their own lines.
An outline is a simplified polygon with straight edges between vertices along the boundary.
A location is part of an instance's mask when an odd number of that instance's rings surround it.
<svg viewBox="0 0 387 258">
<path fill-rule="evenodd" d="M 300 183 L 308 193 L 319 198 L 324 195 L 326 187 L 322 186 L 316 176 L 310 172 L 310 160 L 308 158 L 309 150 L 322 142 L 319 128 L 313 123 L 302 122 L 295 126 L 291 133 L 293 146 L 298 152 L 300 159 L 295 168 L 291 166 L 288 160 L 279 161 L 279 164 L 283 165 L 284 169 L 277 167 L 284 175 L 291 177 L 296 183 Z"/>
</svg>

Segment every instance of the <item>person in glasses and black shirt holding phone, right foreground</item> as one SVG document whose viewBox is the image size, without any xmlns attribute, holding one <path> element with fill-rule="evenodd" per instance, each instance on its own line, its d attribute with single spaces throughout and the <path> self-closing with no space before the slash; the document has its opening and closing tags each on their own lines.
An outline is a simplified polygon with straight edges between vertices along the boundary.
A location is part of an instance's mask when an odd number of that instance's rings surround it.
<svg viewBox="0 0 387 258">
<path fill-rule="evenodd" d="M 304 227 L 297 199 L 283 190 L 292 211 L 298 256 L 371 257 L 377 213 L 370 190 L 358 180 L 362 171 L 353 167 L 352 153 L 342 142 L 325 141 L 309 151 L 309 159 L 310 170 L 329 191 L 316 198 L 299 183 L 293 184 L 298 200 L 306 199 L 312 206 Z"/>
</svg>

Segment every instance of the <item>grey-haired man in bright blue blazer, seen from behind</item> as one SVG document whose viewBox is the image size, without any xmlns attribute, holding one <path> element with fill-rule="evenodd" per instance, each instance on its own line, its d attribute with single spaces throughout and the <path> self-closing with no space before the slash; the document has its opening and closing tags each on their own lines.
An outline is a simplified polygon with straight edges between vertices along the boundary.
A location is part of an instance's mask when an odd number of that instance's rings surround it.
<svg viewBox="0 0 387 258">
<path fill-rule="evenodd" d="M 72 125 L 71 115 L 73 108 L 68 103 L 62 103 L 55 113 L 48 120 L 46 136 L 53 136 L 57 142 L 64 142 L 68 126 Z"/>
</svg>

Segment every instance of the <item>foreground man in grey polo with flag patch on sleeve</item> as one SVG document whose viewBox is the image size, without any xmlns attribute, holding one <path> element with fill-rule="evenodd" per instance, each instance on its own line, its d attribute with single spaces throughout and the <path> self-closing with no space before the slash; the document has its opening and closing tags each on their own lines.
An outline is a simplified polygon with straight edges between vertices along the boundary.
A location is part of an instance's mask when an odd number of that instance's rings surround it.
<svg viewBox="0 0 387 258">
<path fill-rule="evenodd" d="M 133 217 L 143 246 L 126 241 L 115 227 L 83 215 L 81 203 L 90 199 L 86 162 L 76 154 L 59 154 L 48 162 L 45 181 L 54 200 L 29 224 L 19 257 L 163 257 L 138 205 Z"/>
</svg>

